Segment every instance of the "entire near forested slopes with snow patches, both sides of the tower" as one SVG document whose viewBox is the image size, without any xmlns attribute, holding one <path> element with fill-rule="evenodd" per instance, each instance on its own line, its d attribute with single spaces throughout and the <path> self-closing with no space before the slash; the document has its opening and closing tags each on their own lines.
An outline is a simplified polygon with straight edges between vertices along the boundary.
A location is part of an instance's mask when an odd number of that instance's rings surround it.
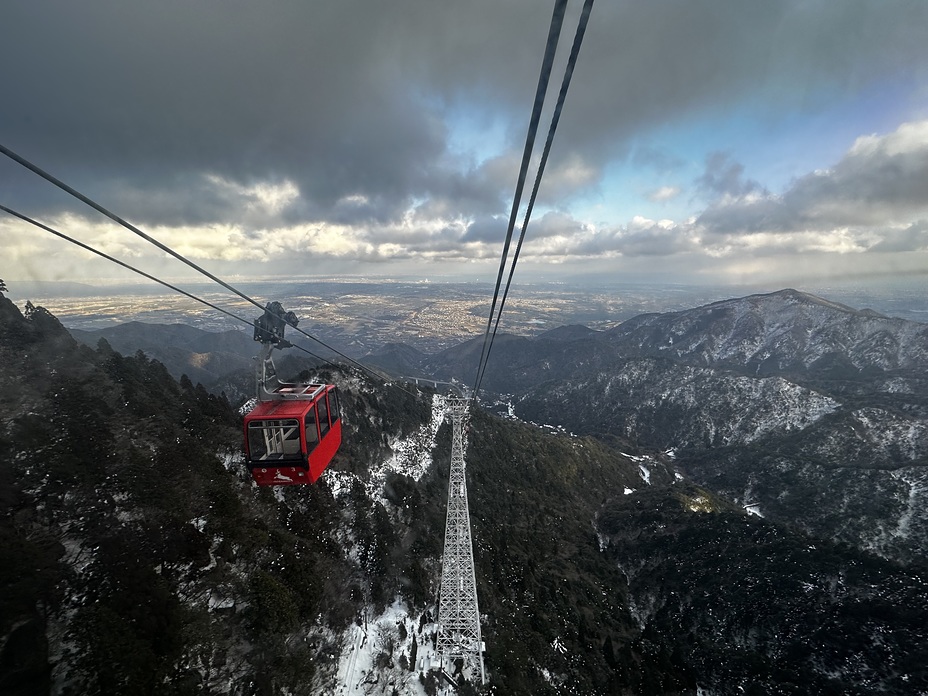
<svg viewBox="0 0 928 696">
<path fill-rule="evenodd" d="M 352 693 L 435 693 L 440 399 L 286 369 L 339 385 L 344 445 L 317 485 L 259 489 L 238 403 L 0 298 L 0 692 L 337 693 L 367 631 Z M 467 441 L 487 693 L 928 690 L 923 570 L 749 517 L 619 437 L 474 410 Z"/>
</svg>

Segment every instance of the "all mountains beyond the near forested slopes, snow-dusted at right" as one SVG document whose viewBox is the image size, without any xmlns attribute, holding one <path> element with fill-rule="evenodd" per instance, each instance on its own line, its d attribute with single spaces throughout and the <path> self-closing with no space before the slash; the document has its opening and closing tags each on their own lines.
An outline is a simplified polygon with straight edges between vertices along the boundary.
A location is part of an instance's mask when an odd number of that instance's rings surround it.
<svg viewBox="0 0 928 696">
<path fill-rule="evenodd" d="M 73 331 L 143 350 L 175 376 L 245 393 L 241 332 L 133 322 Z M 362 361 L 471 384 L 482 339 L 436 354 L 389 344 Z M 237 381 L 236 381 L 237 379 Z M 483 403 L 608 441 L 672 450 L 752 510 L 888 557 L 928 548 L 928 325 L 796 290 L 644 314 L 608 331 L 497 337 Z"/>
</svg>

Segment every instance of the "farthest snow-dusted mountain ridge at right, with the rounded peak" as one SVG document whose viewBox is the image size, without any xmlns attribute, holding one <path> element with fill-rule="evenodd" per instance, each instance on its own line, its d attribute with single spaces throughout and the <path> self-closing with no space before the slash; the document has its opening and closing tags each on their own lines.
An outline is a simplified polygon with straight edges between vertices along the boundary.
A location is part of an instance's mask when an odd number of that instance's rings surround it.
<svg viewBox="0 0 928 696">
<path fill-rule="evenodd" d="M 923 369 L 928 364 L 926 337 L 926 324 L 782 290 L 686 311 L 644 314 L 609 331 L 576 326 L 535 338 L 500 335 L 484 386 L 492 392 L 518 393 L 599 364 L 637 358 L 725 368 L 751 377 L 866 379 Z M 475 339 L 398 367 L 428 370 L 439 378 L 472 379 L 481 347 L 482 338 Z"/>
</svg>

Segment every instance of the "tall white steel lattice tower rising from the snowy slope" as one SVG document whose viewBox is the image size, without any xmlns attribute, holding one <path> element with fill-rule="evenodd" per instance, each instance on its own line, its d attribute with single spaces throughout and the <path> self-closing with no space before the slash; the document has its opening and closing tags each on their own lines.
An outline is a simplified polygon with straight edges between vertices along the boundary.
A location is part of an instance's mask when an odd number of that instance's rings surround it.
<svg viewBox="0 0 928 696">
<path fill-rule="evenodd" d="M 451 415 L 451 475 L 438 602 L 438 654 L 442 665 L 449 671 L 454 660 L 463 658 L 465 667 L 469 667 L 472 674 L 480 672 L 480 682 L 483 683 L 483 641 L 480 638 L 480 612 L 477 608 L 462 435 L 467 404 L 468 399 L 448 398 Z"/>
</svg>

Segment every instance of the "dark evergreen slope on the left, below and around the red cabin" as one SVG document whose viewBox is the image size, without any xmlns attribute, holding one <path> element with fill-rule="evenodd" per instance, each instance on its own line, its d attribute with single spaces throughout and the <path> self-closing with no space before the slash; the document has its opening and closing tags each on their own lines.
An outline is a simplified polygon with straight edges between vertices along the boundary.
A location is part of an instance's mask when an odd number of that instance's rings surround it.
<svg viewBox="0 0 928 696">
<path fill-rule="evenodd" d="M 0 329 L 3 693 L 309 693 L 362 607 L 429 596 L 362 485 L 253 487 L 224 396 L 42 308 L 3 298 Z M 429 414 L 389 388 L 345 404 L 336 468 L 359 474 Z"/>
</svg>

